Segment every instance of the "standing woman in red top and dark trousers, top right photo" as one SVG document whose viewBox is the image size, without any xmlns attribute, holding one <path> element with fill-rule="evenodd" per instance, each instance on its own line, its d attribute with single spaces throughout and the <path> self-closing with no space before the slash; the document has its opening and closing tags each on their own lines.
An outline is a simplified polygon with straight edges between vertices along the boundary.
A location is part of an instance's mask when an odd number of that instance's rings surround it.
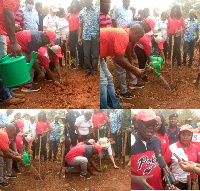
<svg viewBox="0 0 200 191">
<path fill-rule="evenodd" d="M 181 38 L 184 34 L 185 29 L 185 21 L 182 17 L 180 7 L 175 5 L 172 7 L 170 12 L 170 17 L 168 19 L 167 24 L 167 42 L 169 43 L 170 51 L 169 57 L 171 57 L 171 50 L 172 50 L 172 37 L 174 35 L 174 49 L 173 49 L 173 57 L 172 63 L 174 65 L 175 57 L 177 58 L 177 67 L 180 69 L 181 67 Z"/>
</svg>

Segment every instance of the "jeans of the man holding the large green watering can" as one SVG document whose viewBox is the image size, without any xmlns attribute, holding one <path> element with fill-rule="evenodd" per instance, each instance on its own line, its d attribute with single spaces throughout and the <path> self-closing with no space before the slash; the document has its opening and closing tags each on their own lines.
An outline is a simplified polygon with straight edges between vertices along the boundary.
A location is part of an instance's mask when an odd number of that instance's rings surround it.
<svg viewBox="0 0 200 191">
<path fill-rule="evenodd" d="M 0 58 L 5 55 L 7 55 L 6 36 L 0 34 Z M 6 88 L 3 82 L 0 82 L 0 104 L 7 102 L 12 96 L 12 89 Z"/>
</svg>

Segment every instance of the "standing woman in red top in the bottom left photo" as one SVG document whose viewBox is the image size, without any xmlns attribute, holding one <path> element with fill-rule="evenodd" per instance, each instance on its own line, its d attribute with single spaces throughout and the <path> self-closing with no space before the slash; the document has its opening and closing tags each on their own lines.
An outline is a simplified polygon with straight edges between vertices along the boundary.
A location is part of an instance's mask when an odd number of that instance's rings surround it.
<svg viewBox="0 0 200 191">
<path fill-rule="evenodd" d="M 41 140 L 41 152 L 40 152 L 40 158 L 42 158 L 42 155 L 44 155 L 44 163 L 47 161 L 47 139 L 49 139 L 49 130 L 51 129 L 51 125 L 49 121 L 46 118 L 46 113 L 44 111 L 41 111 L 38 114 L 38 122 L 36 123 L 36 137 L 38 140 L 35 142 L 38 142 L 38 147 L 40 146 L 40 137 L 42 137 Z"/>
</svg>

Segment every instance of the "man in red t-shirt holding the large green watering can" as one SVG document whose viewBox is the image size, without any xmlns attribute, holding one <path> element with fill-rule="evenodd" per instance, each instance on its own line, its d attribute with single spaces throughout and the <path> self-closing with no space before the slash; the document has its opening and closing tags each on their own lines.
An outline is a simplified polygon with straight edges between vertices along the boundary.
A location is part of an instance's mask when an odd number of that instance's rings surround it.
<svg viewBox="0 0 200 191">
<path fill-rule="evenodd" d="M 0 58 L 6 55 L 6 35 L 11 39 L 11 52 L 14 56 L 21 55 L 21 47 L 15 36 L 15 13 L 19 8 L 20 0 L 0 0 Z M 13 94 L 11 88 L 6 88 L 0 82 L 0 104 L 19 104 L 25 99 L 23 95 Z"/>
</svg>

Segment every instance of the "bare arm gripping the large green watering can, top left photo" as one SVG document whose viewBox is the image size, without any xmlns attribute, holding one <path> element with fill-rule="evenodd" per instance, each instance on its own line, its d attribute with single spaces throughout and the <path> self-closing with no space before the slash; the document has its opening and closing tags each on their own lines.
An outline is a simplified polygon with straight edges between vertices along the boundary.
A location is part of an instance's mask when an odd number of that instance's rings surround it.
<svg viewBox="0 0 200 191">
<path fill-rule="evenodd" d="M 4 18 L 5 18 L 5 27 L 10 39 L 10 49 L 13 56 L 20 56 L 21 46 L 17 43 L 17 39 L 15 36 L 15 15 L 14 11 L 11 9 L 4 8 Z"/>
</svg>

